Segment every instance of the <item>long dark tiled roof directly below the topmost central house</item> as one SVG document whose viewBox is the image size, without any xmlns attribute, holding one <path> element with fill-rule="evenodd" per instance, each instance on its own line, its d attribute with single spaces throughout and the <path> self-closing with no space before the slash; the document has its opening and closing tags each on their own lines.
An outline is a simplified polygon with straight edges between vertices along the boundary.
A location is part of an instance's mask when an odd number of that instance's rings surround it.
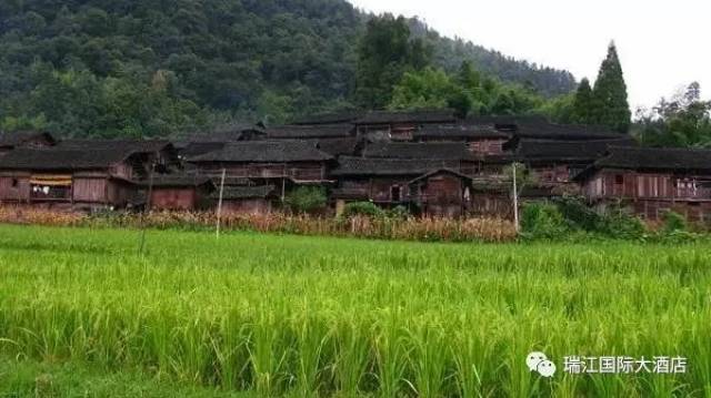
<svg viewBox="0 0 711 398">
<path fill-rule="evenodd" d="M 463 142 L 435 143 L 374 143 L 365 146 L 364 157 L 430 159 L 450 161 L 474 161 Z"/>
</svg>

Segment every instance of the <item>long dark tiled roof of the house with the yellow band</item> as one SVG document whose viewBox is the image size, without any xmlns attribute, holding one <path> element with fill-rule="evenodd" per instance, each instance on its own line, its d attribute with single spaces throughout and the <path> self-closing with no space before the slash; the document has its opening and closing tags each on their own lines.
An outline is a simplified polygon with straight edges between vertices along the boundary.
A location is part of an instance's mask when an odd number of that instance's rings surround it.
<svg viewBox="0 0 711 398">
<path fill-rule="evenodd" d="M 0 157 L 0 169 L 4 170 L 94 170 L 107 169 L 127 160 L 133 151 L 126 149 L 19 149 Z"/>
</svg>

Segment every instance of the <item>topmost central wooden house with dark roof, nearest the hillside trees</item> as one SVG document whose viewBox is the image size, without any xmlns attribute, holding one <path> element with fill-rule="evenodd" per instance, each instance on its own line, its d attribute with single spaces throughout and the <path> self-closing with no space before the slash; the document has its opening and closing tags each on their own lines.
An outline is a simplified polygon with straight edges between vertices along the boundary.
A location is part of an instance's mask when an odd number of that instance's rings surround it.
<svg viewBox="0 0 711 398">
<path fill-rule="evenodd" d="M 368 141 L 412 141 L 423 125 L 454 123 L 454 111 L 369 112 L 353 122 L 359 137 Z"/>
</svg>

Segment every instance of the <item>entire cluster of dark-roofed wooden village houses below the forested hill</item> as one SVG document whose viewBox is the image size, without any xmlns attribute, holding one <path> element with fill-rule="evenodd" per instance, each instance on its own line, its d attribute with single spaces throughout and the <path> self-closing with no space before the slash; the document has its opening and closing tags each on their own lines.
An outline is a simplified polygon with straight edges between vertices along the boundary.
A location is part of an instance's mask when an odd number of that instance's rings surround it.
<svg viewBox="0 0 711 398">
<path fill-rule="evenodd" d="M 188 211 L 214 208 L 222 192 L 224 212 L 261 214 L 310 185 L 327 188 L 337 212 L 368 201 L 428 216 L 511 217 L 513 163 L 533 176 L 521 202 L 572 194 L 650 220 L 668 210 L 711 217 L 709 151 L 640 147 L 605 129 L 538 116 L 458 120 L 449 110 L 230 124 L 174 144 L 3 134 L 0 201 Z"/>
</svg>

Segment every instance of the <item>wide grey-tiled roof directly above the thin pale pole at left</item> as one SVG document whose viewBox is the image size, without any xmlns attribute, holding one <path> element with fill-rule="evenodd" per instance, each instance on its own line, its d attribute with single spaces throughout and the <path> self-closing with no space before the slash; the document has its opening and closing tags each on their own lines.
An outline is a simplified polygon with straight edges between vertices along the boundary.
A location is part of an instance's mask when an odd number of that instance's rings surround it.
<svg viewBox="0 0 711 398">
<path fill-rule="evenodd" d="M 229 143 L 222 150 L 192 157 L 189 162 L 283 163 L 331 159 L 306 141 L 247 141 Z"/>
</svg>

